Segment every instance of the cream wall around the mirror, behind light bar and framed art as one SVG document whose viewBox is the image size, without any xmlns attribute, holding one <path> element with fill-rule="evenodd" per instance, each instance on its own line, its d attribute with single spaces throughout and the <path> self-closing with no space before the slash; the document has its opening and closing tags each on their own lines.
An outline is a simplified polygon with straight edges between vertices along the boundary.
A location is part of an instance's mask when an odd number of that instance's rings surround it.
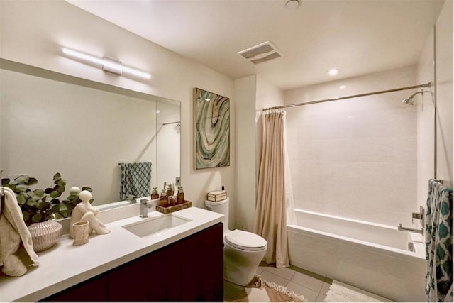
<svg viewBox="0 0 454 303">
<path fill-rule="evenodd" d="M 187 199 L 203 206 L 206 192 L 221 184 L 236 198 L 234 153 L 230 167 L 195 171 L 192 165 L 192 89 L 233 97 L 232 79 L 62 0 L 0 1 L 0 14 L 0 56 L 4 59 L 181 101 L 181 172 Z M 152 79 L 138 82 L 69 60 L 61 54 L 63 45 L 140 67 Z M 231 114 L 234 103 L 231 99 Z M 231 131 L 235 131 L 233 124 Z M 232 139 L 231 150 L 235 150 Z"/>
</svg>

